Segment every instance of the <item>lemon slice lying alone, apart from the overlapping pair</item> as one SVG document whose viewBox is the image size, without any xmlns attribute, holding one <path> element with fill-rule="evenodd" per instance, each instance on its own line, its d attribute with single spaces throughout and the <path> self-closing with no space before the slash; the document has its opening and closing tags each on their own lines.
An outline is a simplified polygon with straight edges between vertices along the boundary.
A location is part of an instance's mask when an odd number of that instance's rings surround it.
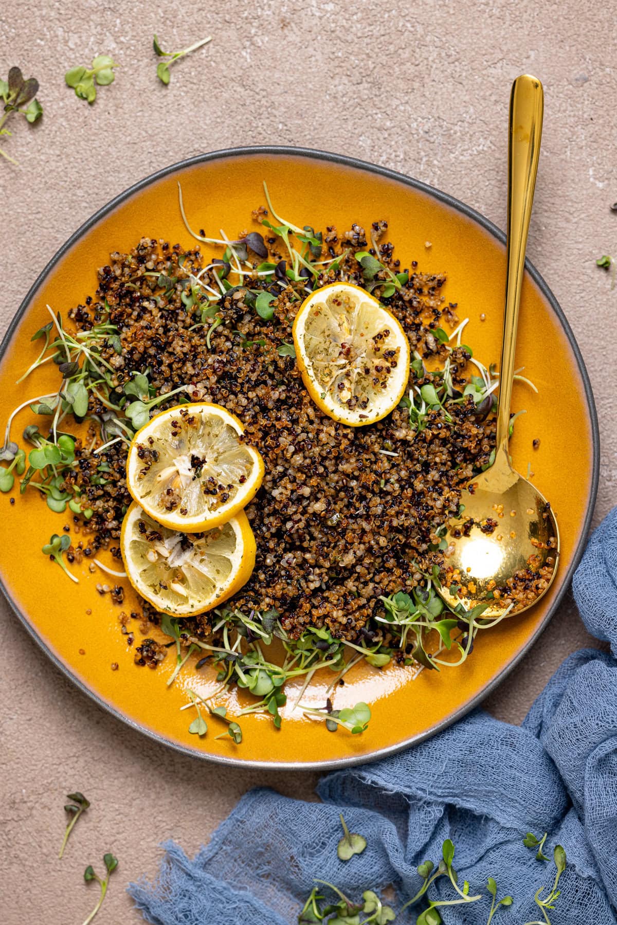
<svg viewBox="0 0 617 925">
<path fill-rule="evenodd" d="M 315 290 L 296 315 L 293 343 L 304 385 L 335 421 L 374 424 L 401 401 L 409 341 L 394 315 L 360 287 Z"/>
</svg>

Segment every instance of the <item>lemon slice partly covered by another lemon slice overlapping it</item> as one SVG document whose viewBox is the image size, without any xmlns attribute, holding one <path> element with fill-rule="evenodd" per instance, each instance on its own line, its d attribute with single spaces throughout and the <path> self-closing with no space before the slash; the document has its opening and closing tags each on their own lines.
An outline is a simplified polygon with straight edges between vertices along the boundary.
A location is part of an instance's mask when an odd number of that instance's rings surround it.
<svg viewBox="0 0 617 925">
<path fill-rule="evenodd" d="M 216 607 L 249 580 L 255 537 L 241 511 L 207 533 L 157 524 L 136 502 L 122 523 L 120 549 L 130 584 L 157 611 L 190 617 Z"/>
</svg>

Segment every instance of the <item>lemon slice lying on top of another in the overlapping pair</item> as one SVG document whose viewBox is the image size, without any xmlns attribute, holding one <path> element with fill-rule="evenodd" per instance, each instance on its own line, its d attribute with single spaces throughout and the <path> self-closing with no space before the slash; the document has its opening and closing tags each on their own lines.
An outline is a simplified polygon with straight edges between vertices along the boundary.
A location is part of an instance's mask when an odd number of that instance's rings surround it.
<svg viewBox="0 0 617 925">
<path fill-rule="evenodd" d="M 135 434 L 127 459 L 130 494 L 159 524 L 198 532 L 224 524 L 253 498 L 261 454 L 220 405 L 199 402 L 156 414 Z"/>
</svg>

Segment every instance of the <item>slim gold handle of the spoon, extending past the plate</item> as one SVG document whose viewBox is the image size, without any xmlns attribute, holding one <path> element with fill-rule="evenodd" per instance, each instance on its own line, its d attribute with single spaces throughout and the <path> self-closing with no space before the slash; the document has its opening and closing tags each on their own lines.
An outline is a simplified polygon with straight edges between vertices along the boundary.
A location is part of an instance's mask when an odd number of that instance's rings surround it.
<svg viewBox="0 0 617 925">
<path fill-rule="evenodd" d="M 508 452 L 510 400 L 524 253 L 536 189 L 542 138 L 544 91 L 537 77 L 523 74 L 512 84 L 508 142 L 508 243 L 506 297 L 501 343 L 500 391 L 497 408 L 497 449 Z M 507 457 L 506 457 L 507 458 Z"/>
</svg>

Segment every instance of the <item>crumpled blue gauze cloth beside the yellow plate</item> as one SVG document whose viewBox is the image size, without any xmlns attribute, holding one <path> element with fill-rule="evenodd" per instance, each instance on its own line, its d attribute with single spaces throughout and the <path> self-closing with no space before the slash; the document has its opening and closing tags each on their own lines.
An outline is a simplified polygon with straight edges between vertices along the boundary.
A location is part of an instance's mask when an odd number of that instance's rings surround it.
<svg viewBox="0 0 617 925">
<path fill-rule="evenodd" d="M 522 727 L 476 710 L 406 752 L 327 774 L 317 788 L 322 803 L 251 791 L 193 860 L 167 843 L 157 882 L 130 884 L 144 919 L 290 925 L 314 878 L 353 900 L 392 883 L 396 911 L 421 885 L 416 866 L 437 863 L 451 838 L 460 882 L 481 893 L 494 876 L 498 895 L 514 898 L 496 925 L 522 925 L 541 919 L 533 897 L 555 872 L 524 847 L 530 831 L 549 833 L 549 857 L 561 844 L 568 858 L 552 925 L 617 922 L 617 509 L 589 541 L 574 596 L 611 655 L 584 649 L 565 660 Z M 368 842 L 347 863 L 337 857 L 339 812 Z M 429 893 L 453 898 L 446 878 Z M 446 925 L 486 925 L 489 898 L 439 912 Z M 421 908 L 397 922 L 414 922 Z"/>
</svg>

